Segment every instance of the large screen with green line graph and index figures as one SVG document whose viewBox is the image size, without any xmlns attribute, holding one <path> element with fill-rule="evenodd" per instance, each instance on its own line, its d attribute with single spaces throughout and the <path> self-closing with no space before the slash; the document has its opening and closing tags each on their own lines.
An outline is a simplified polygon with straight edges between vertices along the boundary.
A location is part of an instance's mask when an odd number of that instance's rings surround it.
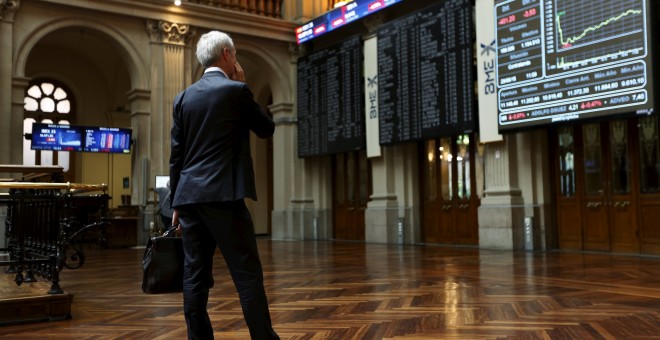
<svg viewBox="0 0 660 340">
<path fill-rule="evenodd" d="M 648 0 L 495 6 L 499 130 L 653 111 Z"/>
</svg>

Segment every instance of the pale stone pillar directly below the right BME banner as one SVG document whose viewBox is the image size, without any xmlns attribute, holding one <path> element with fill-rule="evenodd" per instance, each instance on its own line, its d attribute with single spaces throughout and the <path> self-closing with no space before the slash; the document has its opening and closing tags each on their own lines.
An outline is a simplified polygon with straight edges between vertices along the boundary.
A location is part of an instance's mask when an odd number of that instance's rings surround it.
<svg viewBox="0 0 660 340">
<path fill-rule="evenodd" d="M 524 200 L 518 183 L 517 137 L 486 144 L 486 189 L 479 207 L 479 246 L 488 249 L 522 249 Z"/>
</svg>

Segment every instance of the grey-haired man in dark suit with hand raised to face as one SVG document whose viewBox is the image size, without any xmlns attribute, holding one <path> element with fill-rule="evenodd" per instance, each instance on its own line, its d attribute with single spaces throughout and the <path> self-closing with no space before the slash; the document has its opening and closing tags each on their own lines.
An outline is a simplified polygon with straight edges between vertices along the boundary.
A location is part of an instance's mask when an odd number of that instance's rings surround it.
<svg viewBox="0 0 660 340">
<path fill-rule="evenodd" d="M 236 48 L 225 33 L 204 34 L 200 80 L 174 99 L 170 157 L 173 224 L 185 253 L 183 305 L 189 339 L 212 339 L 207 302 L 213 253 L 220 248 L 238 291 L 252 339 L 279 339 L 272 328 L 252 218 L 244 198 L 257 198 L 250 131 L 273 135 L 275 124 L 244 83 Z"/>
</svg>

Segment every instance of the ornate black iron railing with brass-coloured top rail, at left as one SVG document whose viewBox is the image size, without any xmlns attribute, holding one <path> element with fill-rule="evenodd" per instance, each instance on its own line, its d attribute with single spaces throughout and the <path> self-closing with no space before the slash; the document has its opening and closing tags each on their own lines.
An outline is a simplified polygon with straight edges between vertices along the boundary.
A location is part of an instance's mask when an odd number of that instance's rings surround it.
<svg viewBox="0 0 660 340">
<path fill-rule="evenodd" d="M 59 272 L 79 268 L 85 261 L 80 237 L 98 232 L 105 242 L 110 196 L 106 185 L 75 183 L 0 182 L 0 204 L 7 206 L 5 235 L 8 273 L 18 285 L 39 275 L 51 281 L 49 294 L 62 294 Z"/>
</svg>

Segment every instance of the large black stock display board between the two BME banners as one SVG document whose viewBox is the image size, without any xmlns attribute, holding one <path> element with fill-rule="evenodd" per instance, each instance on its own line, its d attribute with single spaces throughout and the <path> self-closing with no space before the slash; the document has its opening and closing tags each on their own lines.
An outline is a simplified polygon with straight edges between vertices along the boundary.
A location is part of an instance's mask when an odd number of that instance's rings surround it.
<svg viewBox="0 0 660 340">
<path fill-rule="evenodd" d="M 469 0 L 447 0 L 378 29 L 380 144 L 474 130 Z"/>
</svg>

